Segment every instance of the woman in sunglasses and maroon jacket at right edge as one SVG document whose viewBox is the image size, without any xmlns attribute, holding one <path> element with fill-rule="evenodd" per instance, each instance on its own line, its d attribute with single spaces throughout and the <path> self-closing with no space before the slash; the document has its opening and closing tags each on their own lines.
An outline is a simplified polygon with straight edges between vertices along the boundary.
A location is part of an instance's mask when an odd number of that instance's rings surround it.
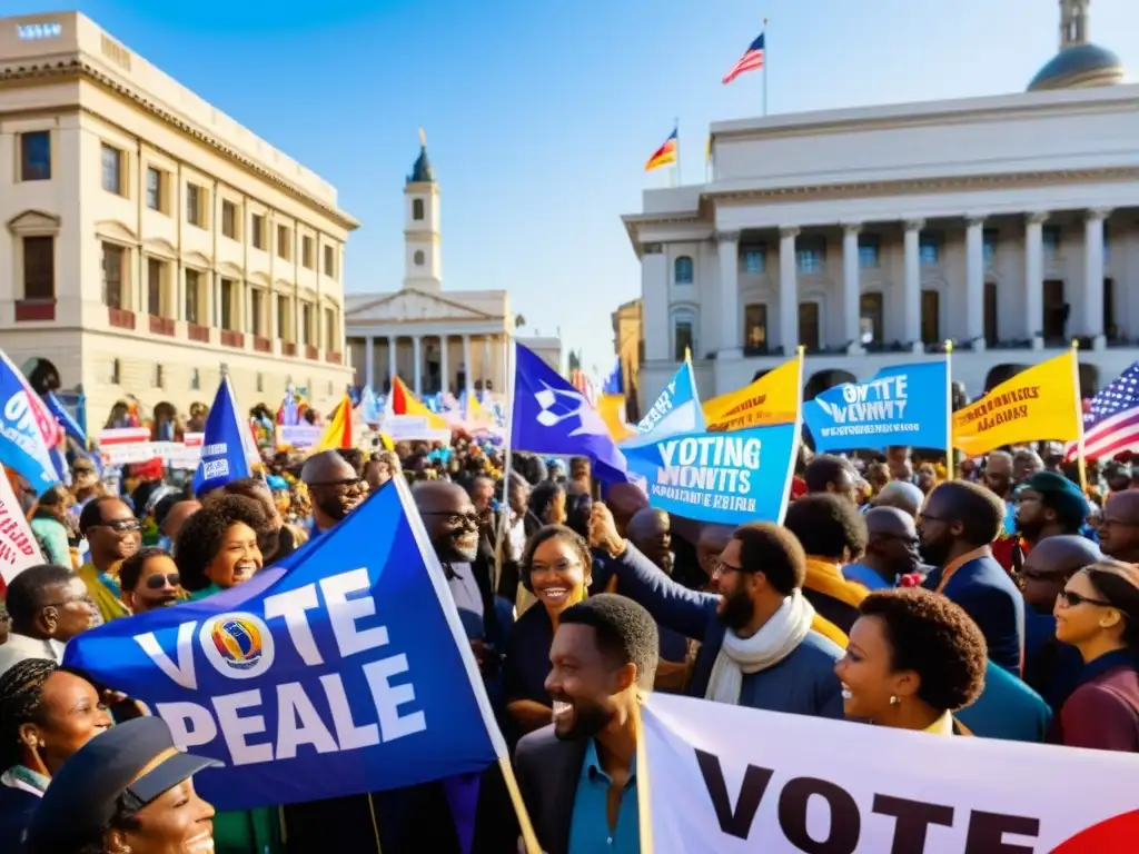
<svg viewBox="0 0 1139 854">
<path fill-rule="evenodd" d="M 1056 597 L 1056 639 L 1080 650 L 1080 685 L 1060 707 L 1050 740 L 1139 753 L 1139 568 L 1092 564 Z"/>
</svg>

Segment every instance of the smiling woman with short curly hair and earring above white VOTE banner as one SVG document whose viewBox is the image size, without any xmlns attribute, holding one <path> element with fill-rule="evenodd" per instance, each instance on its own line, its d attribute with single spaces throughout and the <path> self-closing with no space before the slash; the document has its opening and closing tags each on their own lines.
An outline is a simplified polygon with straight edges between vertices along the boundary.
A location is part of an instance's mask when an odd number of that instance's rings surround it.
<svg viewBox="0 0 1139 854">
<path fill-rule="evenodd" d="M 972 734 L 952 713 L 985 683 L 988 648 L 965 610 L 928 590 L 882 590 L 859 606 L 835 665 L 846 717 L 937 736 Z"/>
</svg>

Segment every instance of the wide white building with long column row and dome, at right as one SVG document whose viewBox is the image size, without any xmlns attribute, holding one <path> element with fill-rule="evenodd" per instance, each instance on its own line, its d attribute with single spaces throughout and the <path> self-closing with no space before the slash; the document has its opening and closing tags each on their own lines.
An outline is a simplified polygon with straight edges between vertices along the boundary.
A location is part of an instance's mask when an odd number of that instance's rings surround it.
<svg viewBox="0 0 1139 854">
<path fill-rule="evenodd" d="M 705 396 L 798 345 L 816 389 L 947 339 L 970 395 L 1072 338 L 1085 393 L 1130 366 L 1139 85 L 1088 41 L 1088 6 L 1060 0 L 1059 54 L 1024 93 L 713 124 L 712 180 L 623 217 L 642 401 L 689 347 Z"/>
</svg>

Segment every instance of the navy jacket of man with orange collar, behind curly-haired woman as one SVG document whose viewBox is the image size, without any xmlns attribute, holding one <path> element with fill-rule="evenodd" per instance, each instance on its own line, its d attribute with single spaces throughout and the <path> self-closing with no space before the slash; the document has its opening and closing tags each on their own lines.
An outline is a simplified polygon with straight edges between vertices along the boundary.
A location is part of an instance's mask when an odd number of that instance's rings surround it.
<svg viewBox="0 0 1139 854">
<path fill-rule="evenodd" d="M 926 577 L 925 586 L 936 590 L 942 569 Z M 1021 673 L 1024 650 L 1024 597 L 1005 568 L 991 557 L 962 564 L 941 591 L 960 605 L 981 627 L 989 644 L 989 658 L 1015 675 Z"/>
</svg>

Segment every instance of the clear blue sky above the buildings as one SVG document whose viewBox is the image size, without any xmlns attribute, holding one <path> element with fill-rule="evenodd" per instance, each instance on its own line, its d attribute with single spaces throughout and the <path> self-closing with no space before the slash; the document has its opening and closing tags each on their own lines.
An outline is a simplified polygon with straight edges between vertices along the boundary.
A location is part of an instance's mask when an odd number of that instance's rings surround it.
<svg viewBox="0 0 1139 854">
<path fill-rule="evenodd" d="M 0 15 L 59 0 L 2 0 Z M 506 288 L 525 334 L 613 361 L 611 312 L 640 291 L 620 216 L 680 117 L 688 182 L 712 121 L 757 115 L 762 73 L 720 77 L 770 18 L 769 108 L 1015 92 L 1056 51 L 1057 0 L 91 0 L 158 65 L 339 188 L 362 223 L 346 289 L 403 276 L 403 179 L 426 129 L 444 288 Z M 1096 0 L 1092 40 L 1139 69 L 1139 2 Z"/>
</svg>

